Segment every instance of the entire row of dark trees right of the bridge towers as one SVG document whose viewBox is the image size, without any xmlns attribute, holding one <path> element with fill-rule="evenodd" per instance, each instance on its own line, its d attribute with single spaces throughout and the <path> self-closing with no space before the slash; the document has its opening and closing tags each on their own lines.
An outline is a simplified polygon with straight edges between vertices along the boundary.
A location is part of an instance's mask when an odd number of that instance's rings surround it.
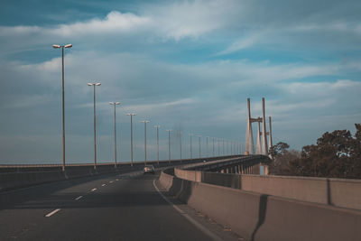
<svg viewBox="0 0 361 241">
<path fill-rule="evenodd" d="M 286 143 L 273 145 L 271 174 L 361 179 L 361 124 L 355 126 L 354 136 L 347 130 L 327 132 L 301 152 Z"/>
</svg>

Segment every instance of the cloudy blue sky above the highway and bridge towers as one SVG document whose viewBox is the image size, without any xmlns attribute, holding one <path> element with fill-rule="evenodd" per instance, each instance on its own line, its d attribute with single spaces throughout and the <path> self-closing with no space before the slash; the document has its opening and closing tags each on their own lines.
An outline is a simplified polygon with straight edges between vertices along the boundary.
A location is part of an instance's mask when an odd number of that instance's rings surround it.
<svg viewBox="0 0 361 241">
<path fill-rule="evenodd" d="M 212 154 L 224 138 L 245 144 L 246 98 L 253 117 L 273 118 L 273 144 L 315 144 L 361 122 L 361 2 L 310 0 L 3 0 L 0 9 L 0 164 L 59 163 L 61 53 L 65 50 L 67 162 Z M 256 127 L 254 126 L 254 130 Z M 254 134 L 255 135 L 255 134 Z M 222 144 L 221 144 L 222 148 Z M 229 147 L 228 147 L 229 148 Z M 221 150 L 222 152 L 222 150 Z"/>
</svg>

